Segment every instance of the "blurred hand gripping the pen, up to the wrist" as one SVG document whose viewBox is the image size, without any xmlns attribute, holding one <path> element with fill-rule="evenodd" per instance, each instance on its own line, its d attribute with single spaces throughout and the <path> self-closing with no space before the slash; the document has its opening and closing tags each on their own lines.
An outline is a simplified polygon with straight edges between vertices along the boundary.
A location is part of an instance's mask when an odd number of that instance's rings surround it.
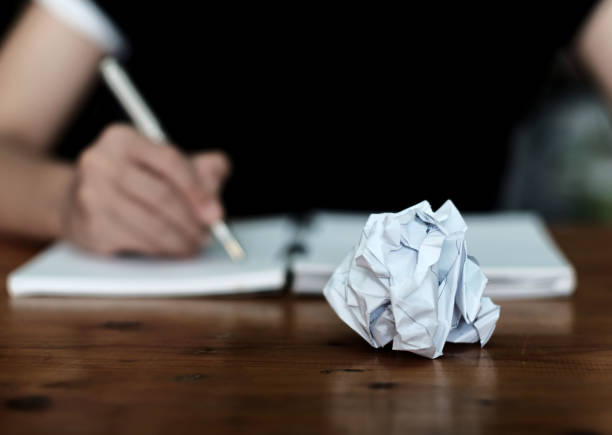
<svg viewBox="0 0 612 435">
<path fill-rule="evenodd" d="M 191 158 L 112 125 L 81 154 L 64 211 L 64 236 L 101 254 L 188 256 L 223 217 L 229 173 L 222 153 Z"/>
</svg>

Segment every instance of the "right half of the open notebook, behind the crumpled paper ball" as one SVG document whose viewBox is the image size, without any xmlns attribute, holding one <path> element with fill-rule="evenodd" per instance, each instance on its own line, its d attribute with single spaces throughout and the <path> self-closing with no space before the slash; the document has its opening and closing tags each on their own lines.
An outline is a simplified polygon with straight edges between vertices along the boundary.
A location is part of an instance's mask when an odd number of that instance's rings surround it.
<svg viewBox="0 0 612 435">
<path fill-rule="evenodd" d="M 306 252 L 294 258 L 293 288 L 321 293 L 335 267 L 361 236 L 367 215 L 318 213 L 302 231 Z M 501 299 L 571 293 L 574 270 L 537 215 L 466 214 L 468 253 L 489 278 L 485 293 Z"/>
</svg>

